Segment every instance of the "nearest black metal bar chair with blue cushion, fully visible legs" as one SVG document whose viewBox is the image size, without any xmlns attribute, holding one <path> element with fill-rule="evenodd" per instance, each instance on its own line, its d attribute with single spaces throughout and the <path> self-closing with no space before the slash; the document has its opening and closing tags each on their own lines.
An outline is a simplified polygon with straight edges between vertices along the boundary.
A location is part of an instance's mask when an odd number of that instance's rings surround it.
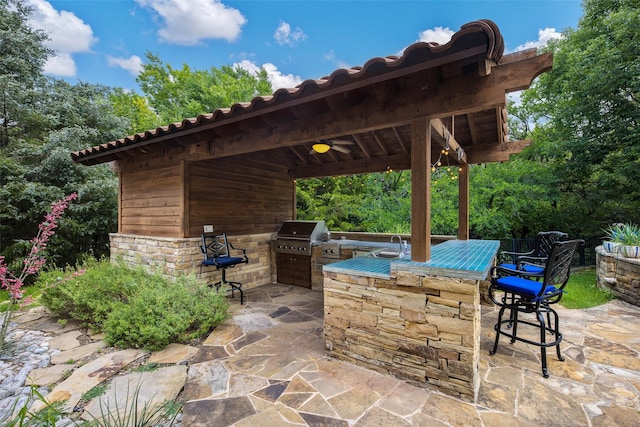
<svg viewBox="0 0 640 427">
<path fill-rule="evenodd" d="M 489 286 L 489 298 L 500 307 L 498 321 L 494 326 L 496 340 L 489 354 L 493 355 L 498 350 L 500 335 L 511 338 L 513 344 L 516 340 L 539 346 L 541 349 L 542 375 L 549 377 L 547 369 L 547 347 L 556 347 L 558 360 L 564 361 L 560 354 L 560 341 L 562 334 L 559 330 L 558 313 L 551 307 L 562 299 L 564 288 L 569 280 L 571 272 L 571 260 L 578 245 L 583 245 L 583 240 L 568 240 L 555 242 L 548 255 L 544 266 L 542 281 L 532 280 L 529 273 L 522 270 L 509 269 L 496 266 L 492 272 L 491 285 Z M 502 320 L 505 310 L 510 311 L 509 319 Z M 535 313 L 537 323 L 520 318 L 520 314 Z M 553 323 L 551 321 L 553 315 Z M 546 317 L 546 323 L 545 323 Z M 508 323 L 512 328 L 503 330 L 502 325 Z M 519 325 L 529 325 L 539 329 L 540 338 L 518 336 Z M 547 342 L 547 333 L 553 336 L 551 342 Z"/>
</svg>

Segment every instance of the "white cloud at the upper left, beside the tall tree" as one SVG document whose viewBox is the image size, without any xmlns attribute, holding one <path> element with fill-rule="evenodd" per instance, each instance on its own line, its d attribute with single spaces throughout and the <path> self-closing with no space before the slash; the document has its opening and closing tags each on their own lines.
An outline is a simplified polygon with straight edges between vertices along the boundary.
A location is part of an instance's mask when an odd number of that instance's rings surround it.
<svg viewBox="0 0 640 427">
<path fill-rule="evenodd" d="M 90 52 L 98 41 L 91 27 L 71 12 L 57 11 L 45 0 L 28 0 L 34 7 L 30 23 L 34 28 L 44 30 L 49 35 L 45 43 L 54 55 L 44 66 L 44 72 L 63 77 L 76 75 L 73 54 Z"/>
</svg>

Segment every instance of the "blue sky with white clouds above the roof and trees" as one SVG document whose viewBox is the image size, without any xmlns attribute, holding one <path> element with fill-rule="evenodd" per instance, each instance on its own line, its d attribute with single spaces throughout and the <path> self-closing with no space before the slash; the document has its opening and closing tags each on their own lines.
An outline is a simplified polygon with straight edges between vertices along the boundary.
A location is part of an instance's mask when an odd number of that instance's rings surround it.
<svg viewBox="0 0 640 427">
<path fill-rule="evenodd" d="M 265 67 L 275 89 L 417 41 L 446 43 L 477 19 L 493 20 L 514 52 L 576 28 L 582 15 L 579 0 L 25 1 L 56 52 L 48 75 L 136 91 L 147 51 L 174 68 Z"/>
</svg>

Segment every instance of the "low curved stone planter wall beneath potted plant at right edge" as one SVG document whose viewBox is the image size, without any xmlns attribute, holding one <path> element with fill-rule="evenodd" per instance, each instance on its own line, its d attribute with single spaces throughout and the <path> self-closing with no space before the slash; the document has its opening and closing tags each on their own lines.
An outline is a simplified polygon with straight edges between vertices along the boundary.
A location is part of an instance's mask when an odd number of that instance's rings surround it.
<svg viewBox="0 0 640 427">
<path fill-rule="evenodd" d="M 640 306 L 640 259 L 625 258 L 596 248 L 597 284 L 616 297 Z"/>
</svg>

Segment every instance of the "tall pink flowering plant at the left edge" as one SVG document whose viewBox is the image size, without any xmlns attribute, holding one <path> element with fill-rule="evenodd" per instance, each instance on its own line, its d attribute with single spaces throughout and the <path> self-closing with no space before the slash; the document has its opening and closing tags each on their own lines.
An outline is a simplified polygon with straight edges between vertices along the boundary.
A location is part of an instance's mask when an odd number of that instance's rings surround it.
<svg viewBox="0 0 640 427">
<path fill-rule="evenodd" d="M 6 289 L 9 293 L 9 304 L 4 317 L 2 319 L 2 325 L 0 326 L 0 351 L 4 347 L 4 340 L 6 338 L 9 324 L 11 323 L 11 316 L 15 307 L 22 299 L 24 292 L 22 286 L 27 277 L 37 274 L 46 262 L 45 249 L 47 248 L 47 242 L 55 234 L 55 229 L 58 226 L 58 219 L 62 216 L 65 209 L 69 205 L 69 202 L 75 200 L 78 197 L 76 193 L 72 193 L 62 200 L 51 205 L 51 212 L 45 215 L 44 221 L 38 226 L 38 234 L 31 240 L 31 250 L 24 259 L 24 266 L 19 275 L 9 270 L 9 267 L 4 261 L 4 257 L 0 255 L 0 289 Z"/>
</svg>

